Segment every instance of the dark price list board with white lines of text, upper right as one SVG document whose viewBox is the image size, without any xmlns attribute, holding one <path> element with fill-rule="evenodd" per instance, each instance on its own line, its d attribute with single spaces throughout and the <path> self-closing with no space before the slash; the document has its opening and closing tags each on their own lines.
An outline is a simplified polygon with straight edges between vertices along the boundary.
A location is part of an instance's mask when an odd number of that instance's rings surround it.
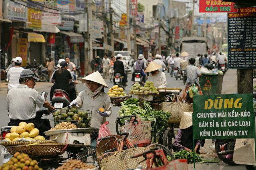
<svg viewBox="0 0 256 170">
<path fill-rule="evenodd" d="M 256 8 L 228 13 L 228 67 L 256 68 Z"/>
</svg>

